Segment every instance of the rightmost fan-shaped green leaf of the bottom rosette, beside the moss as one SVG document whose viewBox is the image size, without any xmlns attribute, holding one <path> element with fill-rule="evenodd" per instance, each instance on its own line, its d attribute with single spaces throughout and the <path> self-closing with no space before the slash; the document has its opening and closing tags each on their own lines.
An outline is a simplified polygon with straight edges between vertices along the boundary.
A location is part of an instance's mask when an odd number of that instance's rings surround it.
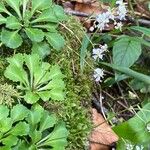
<svg viewBox="0 0 150 150">
<path fill-rule="evenodd" d="M 52 146 L 53 149 L 56 150 L 63 150 L 67 145 L 67 135 L 68 131 L 65 128 L 64 123 L 59 123 L 56 125 L 53 132 L 47 137 L 47 140 L 43 142 L 43 145 Z"/>
</svg>

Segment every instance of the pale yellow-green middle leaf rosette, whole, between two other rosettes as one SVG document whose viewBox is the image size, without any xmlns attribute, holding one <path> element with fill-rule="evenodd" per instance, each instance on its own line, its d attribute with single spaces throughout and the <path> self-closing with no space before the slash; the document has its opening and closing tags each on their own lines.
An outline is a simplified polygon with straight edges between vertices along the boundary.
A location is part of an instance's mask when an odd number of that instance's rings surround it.
<svg viewBox="0 0 150 150">
<path fill-rule="evenodd" d="M 38 100 L 64 100 L 65 84 L 58 65 L 42 62 L 37 54 L 16 54 L 7 59 L 8 67 L 5 77 L 19 83 L 27 103 L 33 104 Z"/>
</svg>

